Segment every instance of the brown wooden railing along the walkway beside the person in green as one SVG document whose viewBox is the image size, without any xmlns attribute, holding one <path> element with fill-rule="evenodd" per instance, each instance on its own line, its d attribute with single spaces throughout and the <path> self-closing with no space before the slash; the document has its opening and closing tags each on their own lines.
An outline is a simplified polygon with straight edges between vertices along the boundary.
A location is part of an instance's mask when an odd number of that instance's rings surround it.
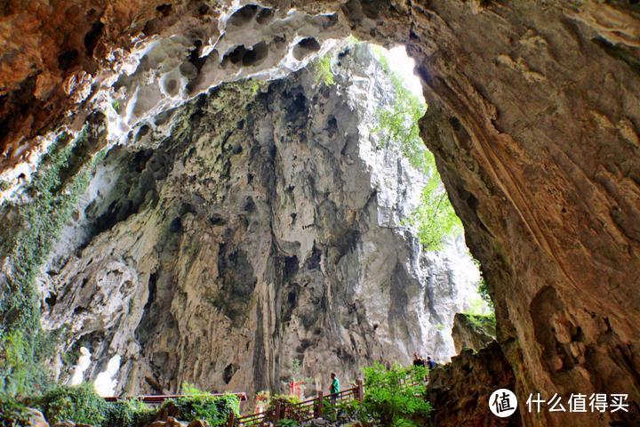
<svg viewBox="0 0 640 427">
<path fill-rule="evenodd" d="M 283 404 L 278 401 L 276 407 L 260 412 L 259 414 L 250 414 L 236 417 L 231 413 L 228 416 L 228 427 L 266 427 L 276 425 L 278 421 L 289 419 L 299 423 L 312 420 L 323 415 L 323 408 L 328 402 L 342 402 L 348 400 L 364 399 L 364 390 L 362 380 L 356 381 L 356 387 L 343 390 L 338 393 L 324 396 L 323 392 L 318 392 L 314 399 L 304 400 L 291 405 Z"/>
</svg>

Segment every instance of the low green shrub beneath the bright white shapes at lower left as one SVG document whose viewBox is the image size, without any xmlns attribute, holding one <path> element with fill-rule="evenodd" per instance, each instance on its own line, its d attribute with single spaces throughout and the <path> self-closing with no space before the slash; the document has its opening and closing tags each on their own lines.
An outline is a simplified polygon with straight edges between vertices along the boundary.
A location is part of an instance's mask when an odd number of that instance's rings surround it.
<svg viewBox="0 0 640 427">
<path fill-rule="evenodd" d="M 100 425 L 108 411 L 107 402 L 96 393 L 90 383 L 56 387 L 37 399 L 36 407 L 51 424 L 68 420 Z"/>
</svg>

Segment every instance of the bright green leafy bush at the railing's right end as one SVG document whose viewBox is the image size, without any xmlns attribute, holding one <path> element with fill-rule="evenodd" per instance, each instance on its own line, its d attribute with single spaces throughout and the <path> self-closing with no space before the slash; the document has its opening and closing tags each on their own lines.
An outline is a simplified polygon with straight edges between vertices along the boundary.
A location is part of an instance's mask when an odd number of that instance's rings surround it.
<svg viewBox="0 0 640 427">
<path fill-rule="evenodd" d="M 394 427 L 420 425 L 431 405 L 425 399 L 425 367 L 387 370 L 381 364 L 364 368 L 364 402 L 368 414 L 380 425 Z"/>
</svg>

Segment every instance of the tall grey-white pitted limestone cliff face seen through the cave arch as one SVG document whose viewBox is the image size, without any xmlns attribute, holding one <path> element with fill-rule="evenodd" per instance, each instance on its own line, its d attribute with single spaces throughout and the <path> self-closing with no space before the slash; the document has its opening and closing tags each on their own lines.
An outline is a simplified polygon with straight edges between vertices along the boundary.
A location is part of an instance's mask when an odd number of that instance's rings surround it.
<svg viewBox="0 0 640 427">
<path fill-rule="evenodd" d="M 453 354 L 475 283 L 448 262 L 466 248 L 423 254 L 400 225 L 424 177 L 379 147 L 394 93 L 369 47 L 332 68 L 335 85 L 224 86 L 108 153 L 39 279 L 61 350 L 92 351 L 86 379 L 118 355 L 116 391 L 251 392 L 297 359 L 325 389 L 331 370 Z"/>
</svg>

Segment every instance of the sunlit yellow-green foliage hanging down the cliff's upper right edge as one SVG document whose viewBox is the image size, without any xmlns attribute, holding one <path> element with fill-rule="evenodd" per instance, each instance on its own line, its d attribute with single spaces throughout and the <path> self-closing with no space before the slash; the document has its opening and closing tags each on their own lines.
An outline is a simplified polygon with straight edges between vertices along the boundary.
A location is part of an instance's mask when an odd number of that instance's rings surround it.
<svg viewBox="0 0 640 427">
<path fill-rule="evenodd" d="M 422 246 L 428 250 L 438 250 L 445 236 L 462 231 L 462 223 L 440 180 L 436 158 L 420 138 L 418 122 L 427 111 L 427 106 L 404 86 L 402 77 L 391 71 L 384 54 L 380 50 L 375 52 L 378 52 L 380 66 L 391 79 L 395 102 L 390 108 L 378 111 L 378 125 L 373 131 L 380 134 L 382 147 L 397 147 L 409 163 L 427 177 L 420 205 L 408 222 L 418 229 Z"/>
</svg>

